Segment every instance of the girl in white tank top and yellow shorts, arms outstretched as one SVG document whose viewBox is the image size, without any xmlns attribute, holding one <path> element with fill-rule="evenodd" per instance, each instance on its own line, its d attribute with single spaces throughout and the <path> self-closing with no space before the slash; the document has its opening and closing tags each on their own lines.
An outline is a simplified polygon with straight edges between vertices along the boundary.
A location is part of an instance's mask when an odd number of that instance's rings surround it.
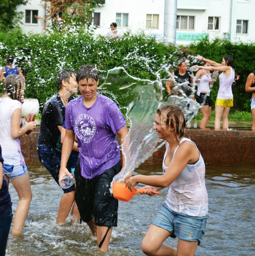
<svg viewBox="0 0 255 256">
<path fill-rule="evenodd" d="M 231 55 L 227 55 L 222 58 L 222 63 L 217 63 L 213 60 L 203 58 L 201 56 L 196 57 L 199 61 L 205 61 L 212 66 L 197 66 L 199 69 L 211 70 L 211 71 L 222 71 L 219 75 L 220 88 L 218 90 L 216 102 L 215 102 L 215 130 L 221 128 L 229 128 L 229 111 L 230 107 L 233 106 L 233 93 L 232 83 L 235 79 L 235 70 L 233 69 L 234 60 Z"/>
</svg>

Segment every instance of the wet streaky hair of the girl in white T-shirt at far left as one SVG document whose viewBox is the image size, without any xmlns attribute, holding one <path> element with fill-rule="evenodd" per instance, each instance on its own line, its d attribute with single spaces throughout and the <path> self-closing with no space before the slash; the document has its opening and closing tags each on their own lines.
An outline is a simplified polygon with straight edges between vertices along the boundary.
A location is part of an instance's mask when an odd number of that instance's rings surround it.
<svg viewBox="0 0 255 256">
<path fill-rule="evenodd" d="M 7 75 L 4 79 L 4 92 L 13 100 L 20 100 L 21 88 L 25 80 L 19 75 Z"/>
</svg>

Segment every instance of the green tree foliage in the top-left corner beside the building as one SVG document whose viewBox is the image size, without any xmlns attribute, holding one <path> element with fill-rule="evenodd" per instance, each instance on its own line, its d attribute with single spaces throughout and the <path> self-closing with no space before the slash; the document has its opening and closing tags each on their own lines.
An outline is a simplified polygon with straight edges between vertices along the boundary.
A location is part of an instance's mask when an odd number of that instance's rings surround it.
<svg viewBox="0 0 255 256">
<path fill-rule="evenodd" d="M 1 0 L 0 1 L 0 31 L 9 31 L 17 26 L 22 19 L 23 12 L 17 12 L 17 6 L 26 4 L 28 0 Z"/>
</svg>

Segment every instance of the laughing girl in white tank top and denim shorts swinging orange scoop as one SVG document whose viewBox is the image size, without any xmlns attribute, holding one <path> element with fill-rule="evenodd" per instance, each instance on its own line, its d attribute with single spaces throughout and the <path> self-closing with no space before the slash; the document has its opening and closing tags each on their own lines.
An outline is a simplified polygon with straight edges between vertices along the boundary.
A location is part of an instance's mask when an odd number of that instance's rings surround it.
<svg viewBox="0 0 255 256">
<path fill-rule="evenodd" d="M 178 106 L 157 110 L 153 129 L 166 141 L 163 175 L 135 175 L 126 183 L 132 191 L 139 182 L 151 190 L 169 187 L 167 198 L 142 240 L 146 255 L 193 256 L 200 244 L 208 214 L 205 164 L 196 145 L 187 138 L 186 122 Z M 177 249 L 164 241 L 178 239 Z"/>
</svg>

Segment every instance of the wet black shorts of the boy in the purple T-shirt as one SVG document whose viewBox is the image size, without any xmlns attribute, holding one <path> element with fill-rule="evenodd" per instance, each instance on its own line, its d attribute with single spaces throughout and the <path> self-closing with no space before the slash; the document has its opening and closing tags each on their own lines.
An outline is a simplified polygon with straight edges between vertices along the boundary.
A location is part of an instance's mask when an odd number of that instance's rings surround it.
<svg viewBox="0 0 255 256">
<path fill-rule="evenodd" d="M 114 175 L 121 170 L 120 162 L 92 179 L 81 175 L 79 161 L 75 169 L 75 200 L 82 221 L 89 222 L 95 217 L 98 226 L 117 227 L 118 200 L 110 193 Z"/>
</svg>

